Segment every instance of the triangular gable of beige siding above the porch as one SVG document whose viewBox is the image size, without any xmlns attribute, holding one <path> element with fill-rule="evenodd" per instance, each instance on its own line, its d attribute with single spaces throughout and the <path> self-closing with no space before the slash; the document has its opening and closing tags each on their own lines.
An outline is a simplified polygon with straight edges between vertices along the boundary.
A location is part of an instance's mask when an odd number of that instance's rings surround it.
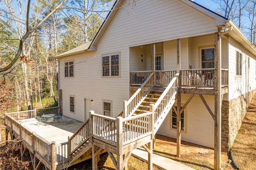
<svg viewBox="0 0 256 170">
<path fill-rule="evenodd" d="M 163 42 L 187 36 L 216 32 L 212 18 L 184 6 L 179 1 L 140 0 L 132 11 L 120 10 L 98 46 L 118 48 Z M 204 32 L 202 32 L 204 30 Z"/>
</svg>

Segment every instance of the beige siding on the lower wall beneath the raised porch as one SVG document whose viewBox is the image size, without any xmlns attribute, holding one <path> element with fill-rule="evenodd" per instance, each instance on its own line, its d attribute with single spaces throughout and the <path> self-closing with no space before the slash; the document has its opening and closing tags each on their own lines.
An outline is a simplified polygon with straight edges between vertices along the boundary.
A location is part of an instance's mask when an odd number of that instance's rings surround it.
<svg viewBox="0 0 256 170">
<path fill-rule="evenodd" d="M 190 95 L 182 94 L 181 102 L 183 104 L 186 103 L 188 97 L 190 97 Z M 205 95 L 204 99 L 214 112 L 214 97 Z M 170 129 L 170 116 L 171 113 L 168 114 L 157 133 L 176 138 L 176 130 Z M 184 121 L 186 122 L 185 132 L 181 133 L 181 140 L 208 146 L 210 148 L 214 147 L 214 121 L 198 95 L 194 95 L 186 107 L 186 117 Z"/>
</svg>

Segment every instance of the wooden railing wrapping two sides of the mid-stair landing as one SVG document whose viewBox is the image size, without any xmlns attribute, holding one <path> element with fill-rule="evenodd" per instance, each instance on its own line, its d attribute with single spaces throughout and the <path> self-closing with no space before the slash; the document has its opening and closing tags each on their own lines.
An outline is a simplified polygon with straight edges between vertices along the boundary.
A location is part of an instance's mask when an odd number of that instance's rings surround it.
<svg viewBox="0 0 256 170">
<path fill-rule="evenodd" d="M 94 111 L 90 111 L 89 114 L 92 122 L 92 137 L 100 138 L 104 142 L 116 146 L 143 138 L 145 134 L 152 133 L 154 128 L 151 112 L 127 118 L 107 117 L 95 114 Z"/>
</svg>

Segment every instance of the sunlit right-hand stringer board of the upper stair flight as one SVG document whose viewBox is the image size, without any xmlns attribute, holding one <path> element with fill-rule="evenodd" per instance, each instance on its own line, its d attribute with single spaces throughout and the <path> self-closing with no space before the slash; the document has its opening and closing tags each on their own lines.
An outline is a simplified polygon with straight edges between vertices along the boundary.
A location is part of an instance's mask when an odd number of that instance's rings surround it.
<svg viewBox="0 0 256 170">
<path fill-rule="evenodd" d="M 178 95 L 178 90 L 172 95 L 172 98 L 170 99 L 170 101 L 168 102 L 166 107 L 164 108 L 164 111 L 162 111 L 161 115 L 158 117 L 158 119 L 154 123 L 154 135 L 156 134 L 156 132 L 158 131 L 158 129 L 164 122 L 164 119 L 166 118 L 166 116 L 168 115 L 170 110 L 172 109 L 172 106 L 174 105 L 174 103 L 176 101 L 177 95 Z"/>
</svg>

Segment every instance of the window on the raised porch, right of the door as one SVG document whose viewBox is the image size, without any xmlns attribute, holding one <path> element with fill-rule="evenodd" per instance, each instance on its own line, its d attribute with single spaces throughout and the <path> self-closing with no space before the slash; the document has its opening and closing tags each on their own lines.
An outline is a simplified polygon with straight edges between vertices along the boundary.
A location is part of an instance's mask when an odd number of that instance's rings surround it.
<svg viewBox="0 0 256 170">
<path fill-rule="evenodd" d="M 214 68 L 214 48 L 201 49 L 202 69 Z"/>
</svg>

